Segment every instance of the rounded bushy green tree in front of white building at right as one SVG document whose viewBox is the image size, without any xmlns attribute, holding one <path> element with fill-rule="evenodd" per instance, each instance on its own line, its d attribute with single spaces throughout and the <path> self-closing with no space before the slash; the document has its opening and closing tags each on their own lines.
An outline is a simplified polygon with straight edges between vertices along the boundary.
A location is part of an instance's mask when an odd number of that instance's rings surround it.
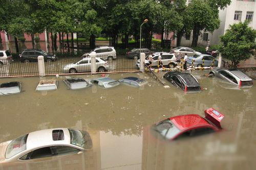
<svg viewBox="0 0 256 170">
<path fill-rule="evenodd" d="M 223 45 L 219 48 L 220 53 L 229 59 L 234 67 L 254 54 L 256 30 L 248 27 L 248 23 L 248 20 L 235 23 L 221 36 Z"/>
</svg>

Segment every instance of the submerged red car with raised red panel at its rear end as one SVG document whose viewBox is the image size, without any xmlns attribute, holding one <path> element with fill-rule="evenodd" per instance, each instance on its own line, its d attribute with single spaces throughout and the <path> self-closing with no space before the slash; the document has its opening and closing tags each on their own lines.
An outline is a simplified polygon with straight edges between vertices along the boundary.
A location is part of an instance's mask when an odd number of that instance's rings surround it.
<svg viewBox="0 0 256 170">
<path fill-rule="evenodd" d="M 153 126 L 166 139 L 174 140 L 189 136 L 198 136 L 221 130 L 224 115 L 214 108 L 204 111 L 205 117 L 187 114 L 167 118 Z"/>
</svg>

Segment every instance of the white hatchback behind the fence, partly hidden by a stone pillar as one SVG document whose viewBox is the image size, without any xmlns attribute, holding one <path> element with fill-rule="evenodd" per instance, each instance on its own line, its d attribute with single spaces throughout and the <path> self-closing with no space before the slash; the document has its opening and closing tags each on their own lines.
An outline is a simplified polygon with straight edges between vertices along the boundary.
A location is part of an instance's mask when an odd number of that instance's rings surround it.
<svg viewBox="0 0 256 170">
<path fill-rule="evenodd" d="M 104 59 L 96 58 L 96 70 L 98 72 L 105 72 L 109 69 L 108 62 Z M 63 67 L 65 73 L 76 73 L 91 71 L 91 58 L 86 57 L 77 62 L 67 64 Z"/>
</svg>

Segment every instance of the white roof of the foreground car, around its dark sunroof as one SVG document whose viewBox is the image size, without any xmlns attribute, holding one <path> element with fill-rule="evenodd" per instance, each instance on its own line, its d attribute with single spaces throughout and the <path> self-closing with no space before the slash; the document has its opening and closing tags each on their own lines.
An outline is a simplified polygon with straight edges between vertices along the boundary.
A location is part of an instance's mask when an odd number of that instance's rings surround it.
<svg viewBox="0 0 256 170">
<path fill-rule="evenodd" d="M 53 140 L 52 131 L 53 130 L 63 130 L 64 139 L 63 140 Z M 48 145 L 58 145 L 58 144 L 70 144 L 70 134 L 67 128 L 56 128 L 56 129 L 46 129 L 31 132 L 27 138 L 27 150 L 33 150 L 36 148 L 46 147 Z"/>
</svg>

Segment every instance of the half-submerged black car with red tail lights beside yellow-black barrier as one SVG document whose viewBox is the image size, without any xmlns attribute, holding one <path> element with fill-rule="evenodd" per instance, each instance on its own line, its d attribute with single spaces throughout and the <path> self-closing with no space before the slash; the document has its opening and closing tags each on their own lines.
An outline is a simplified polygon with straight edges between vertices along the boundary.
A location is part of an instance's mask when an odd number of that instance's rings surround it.
<svg viewBox="0 0 256 170">
<path fill-rule="evenodd" d="M 166 80 L 172 83 L 174 86 L 184 91 L 200 91 L 201 87 L 197 79 L 189 74 L 179 71 L 167 72 L 163 76 Z"/>
</svg>

